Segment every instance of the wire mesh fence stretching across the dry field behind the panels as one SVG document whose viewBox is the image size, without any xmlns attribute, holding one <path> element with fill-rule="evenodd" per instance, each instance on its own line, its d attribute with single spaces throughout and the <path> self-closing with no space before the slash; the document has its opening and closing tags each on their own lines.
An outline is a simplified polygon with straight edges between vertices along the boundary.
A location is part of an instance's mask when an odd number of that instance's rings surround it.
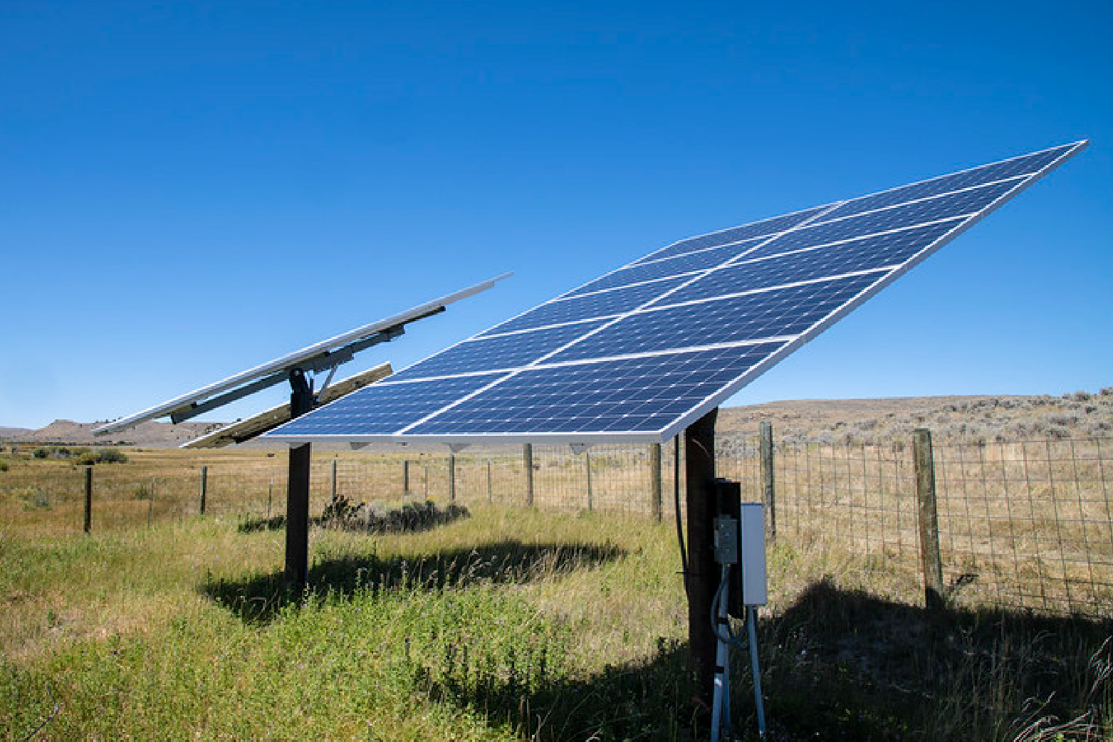
<svg viewBox="0 0 1113 742">
<path fill-rule="evenodd" d="M 721 438 L 718 474 L 766 498 L 757 438 Z M 311 512 L 355 502 L 434 498 L 673 517 L 683 507 L 683 452 L 670 442 L 491 448 L 460 454 L 315 455 Z M 919 570 L 917 477 L 910 442 L 781 443 L 772 469 L 778 538 L 829 544 Z M 0 533 L 80 531 L 83 471 L 66 461 L 0 473 Z M 204 471 L 204 476 L 203 476 Z M 1113 617 L 1113 441 L 946 443 L 934 447 L 945 592 L 957 602 Z M 144 449 L 98 464 L 90 528 L 152 525 L 200 514 L 285 513 L 286 457 L 260 451 Z M 679 489 L 679 493 L 677 492 Z M 681 516 L 683 513 L 681 512 Z M 770 517 L 770 521 L 774 518 Z"/>
</svg>

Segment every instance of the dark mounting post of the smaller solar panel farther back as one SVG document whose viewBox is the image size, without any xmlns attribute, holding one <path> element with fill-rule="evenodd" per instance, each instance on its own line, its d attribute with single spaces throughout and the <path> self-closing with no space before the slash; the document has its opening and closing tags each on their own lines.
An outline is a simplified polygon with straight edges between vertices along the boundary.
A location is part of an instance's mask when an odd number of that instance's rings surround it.
<svg viewBox="0 0 1113 742">
<path fill-rule="evenodd" d="M 289 418 L 313 409 L 313 386 L 301 368 L 289 372 Z M 286 485 L 286 587 L 305 590 L 309 577 L 309 462 L 308 443 L 289 449 L 289 481 Z"/>
</svg>

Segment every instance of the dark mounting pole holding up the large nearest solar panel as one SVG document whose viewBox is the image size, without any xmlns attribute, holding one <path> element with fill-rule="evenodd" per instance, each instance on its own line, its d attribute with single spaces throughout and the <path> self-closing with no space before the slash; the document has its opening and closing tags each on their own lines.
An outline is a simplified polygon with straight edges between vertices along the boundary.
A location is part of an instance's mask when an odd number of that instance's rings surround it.
<svg viewBox="0 0 1113 742">
<path fill-rule="evenodd" d="M 715 421 L 716 407 L 684 431 L 684 479 L 688 501 L 688 646 L 696 692 L 708 709 L 715 690 L 716 637 L 711 603 L 719 585 L 715 562 Z"/>
</svg>

